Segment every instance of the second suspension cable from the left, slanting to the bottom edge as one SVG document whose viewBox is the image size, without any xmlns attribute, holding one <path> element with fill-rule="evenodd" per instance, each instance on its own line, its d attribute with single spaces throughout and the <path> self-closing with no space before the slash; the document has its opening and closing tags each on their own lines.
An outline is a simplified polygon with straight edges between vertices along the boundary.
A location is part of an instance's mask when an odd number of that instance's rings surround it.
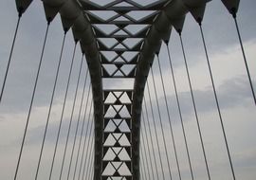
<svg viewBox="0 0 256 180">
<path fill-rule="evenodd" d="M 46 40 L 47 40 L 49 25 L 50 25 L 50 22 L 48 21 L 47 22 L 47 27 L 46 27 L 46 35 L 45 35 L 45 39 L 44 39 L 44 45 L 43 45 L 42 52 L 41 52 L 40 62 L 39 62 L 39 65 L 38 65 L 36 79 L 35 79 L 33 92 L 32 92 L 32 98 L 31 98 L 31 101 L 30 101 L 29 110 L 28 110 L 28 114 L 27 114 L 26 127 L 25 127 L 25 131 L 24 131 L 23 139 L 22 139 L 22 145 L 21 145 L 21 149 L 20 149 L 20 153 L 19 153 L 19 157 L 18 157 L 16 170 L 15 170 L 14 180 L 17 179 L 17 174 L 18 174 L 18 171 L 19 171 L 21 156 L 22 156 L 22 153 L 23 153 L 25 138 L 26 138 L 26 135 L 27 135 L 27 127 L 28 127 L 28 123 L 29 123 L 29 119 L 30 119 L 30 115 L 31 115 L 33 102 L 34 102 L 35 92 L 36 92 L 36 88 L 37 88 L 37 82 L 38 82 L 38 78 L 39 78 L 39 74 L 40 74 L 40 70 L 41 70 L 41 64 L 43 62 L 43 57 L 44 57 L 44 53 L 45 53 L 45 47 L 46 47 Z"/>
</svg>

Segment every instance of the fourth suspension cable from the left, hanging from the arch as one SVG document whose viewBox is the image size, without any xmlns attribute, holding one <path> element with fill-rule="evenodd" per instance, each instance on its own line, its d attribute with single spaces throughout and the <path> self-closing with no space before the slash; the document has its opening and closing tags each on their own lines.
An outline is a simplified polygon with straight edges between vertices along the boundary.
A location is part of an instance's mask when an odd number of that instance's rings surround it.
<svg viewBox="0 0 256 180">
<path fill-rule="evenodd" d="M 71 74 L 72 74 L 72 70 L 73 70 L 73 64 L 74 64 L 74 60 L 75 60 L 76 48 L 77 48 L 77 41 L 75 42 L 75 46 L 74 46 L 74 50 L 73 50 L 73 55 L 72 55 L 72 61 L 71 61 L 70 68 L 69 68 L 68 79 L 67 79 L 66 88 L 65 88 L 65 94 L 64 94 L 64 105 L 63 105 L 63 108 L 62 108 L 61 120 L 60 120 L 59 127 L 58 127 L 58 133 L 57 133 L 57 138 L 56 138 L 56 142 L 55 142 L 54 153 L 53 153 L 53 157 L 52 157 L 52 161 L 51 161 L 49 180 L 51 180 L 53 166 L 54 166 L 55 157 L 56 157 L 56 153 L 57 153 L 57 147 L 58 147 L 58 144 L 59 144 L 59 138 L 60 138 L 61 128 L 62 128 L 62 124 L 63 124 L 63 118 L 64 118 L 65 102 L 66 102 L 67 92 L 68 92 L 69 85 L 70 85 L 70 78 L 71 78 Z"/>
</svg>

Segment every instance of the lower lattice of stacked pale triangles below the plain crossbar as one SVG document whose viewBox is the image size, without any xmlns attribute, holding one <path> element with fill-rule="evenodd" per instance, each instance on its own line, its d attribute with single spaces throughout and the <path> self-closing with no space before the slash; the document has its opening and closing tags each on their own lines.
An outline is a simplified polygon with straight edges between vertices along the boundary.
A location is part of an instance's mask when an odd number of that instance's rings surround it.
<svg viewBox="0 0 256 180">
<path fill-rule="evenodd" d="M 104 91 L 102 179 L 132 179 L 132 91 Z"/>
</svg>

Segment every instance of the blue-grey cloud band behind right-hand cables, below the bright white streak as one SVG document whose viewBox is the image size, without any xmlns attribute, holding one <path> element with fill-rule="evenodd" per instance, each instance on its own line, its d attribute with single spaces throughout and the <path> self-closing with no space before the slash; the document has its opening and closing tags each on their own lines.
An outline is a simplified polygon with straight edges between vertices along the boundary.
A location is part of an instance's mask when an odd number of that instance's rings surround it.
<svg viewBox="0 0 256 180">
<path fill-rule="evenodd" d="M 256 84 L 254 82 L 254 84 Z M 151 89 L 152 96 L 155 98 L 155 95 L 153 95 L 154 90 Z M 247 107 L 251 106 L 253 103 L 251 91 L 248 86 L 248 81 L 246 76 L 238 76 L 232 79 L 229 79 L 227 81 L 223 81 L 222 84 L 220 84 L 218 87 L 216 87 L 217 91 L 217 97 L 219 100 L 221 111 L 225 111 L 227 109 L 234 109 L 239 107 Z M 148 101 L 148 92 L 146 91 L 146 100 L 148 104 L 148 110 L 150 110 L 150 102 Z M 216 102 L 214 99 L 214 94 L 212 87 L 207 87 L 204 90 L 193 90 L 193 95 L 195 99 L 195 106 L 197 109 L 197 113 L 204 114 L 204 113 L 214 113 L 217 111 L 216 109 Z M 177 123 L 179 120 L 178 115 L 178 109 L 176 104 L 176 98 L 175 95 L 169 95 L 167 96 L 168 99 L 168 105 L 169 105 L 169 111 L 171 113 L 171 118 L 174 120 L 175 123 Z M 192 107 L 192 96 L 190 91 L 185 92 L 178 92 L 178 99 L 180 102 L 181 107 L 181 113 L 184 118 L 191 119 L 188 117 L 193 116 L 193 107 Z M 167 113 L 166 113 L 166 104 L 164 97 L 158 97 L 159 107 L 161 111 L 161 117 L 164 120 L 167 120 Z M 155 112 L 155 118 L 158 118 L 157 113 L 157 106 L 156 101 L 153 99 L 153 108 Z M 164 112 L 164 113 L 163 113 Z M 144 110 L 145 113 L 145 110 Z M 149 111 L 151 113 L 151 110 Z"/>
</svg>

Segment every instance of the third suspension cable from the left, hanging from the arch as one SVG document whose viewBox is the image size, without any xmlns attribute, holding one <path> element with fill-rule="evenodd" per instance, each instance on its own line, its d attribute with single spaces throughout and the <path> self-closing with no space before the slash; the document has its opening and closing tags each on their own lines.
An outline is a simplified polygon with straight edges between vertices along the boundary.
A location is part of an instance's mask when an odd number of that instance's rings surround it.
<svg viewBox="0 0 256 180">
<path fill-rule="evenodd" d="M 42 154 L 43 154 L 43 150 L 44 150 L 44 147 L 45 147 L 46 133 L 47 133 L 48 123 L 49 123 L 49 117 L 50 117 L 52 103 L 53 103 L 53 99 L 54 99 L 54 95 L 55 95 L 56 84 L 57 84 L 58 77 L 59 77 L 60 66 L 61 66 L 61 62 L 62 62 L 62 59 L 63 59 L 65 37 L 66 37 L 66 31 L 64 31 L 64 40 L 63 40 L 60 59 L 59 59 L 57 72 L 56 72 L 56 76 L 55 76 L 55 81 L 54 81 L 54 85 L 53 85 L 53 90 L 52 90 L 52 94 L 51 94 L 50 105 L 49 105 L 49 109 L 48 109 L 48 115 L 47 115 L 47 118 L 46 118 L 46 128 L 45 128 L 45 132 L 44 132 L 44 136 L 43 136 L 43 142 L 42 142 L 40 155 L 39 155 L 39 159 L 38 159 L 38 164 L 37 164 L 37 169 L 36 169 L 36 174 L 35 174 L 35 180 L 37 180 L 37 177 L 38 177 L 38 172 L 39 172 L 40 165 L 41 165 Z"/>
</svg>

